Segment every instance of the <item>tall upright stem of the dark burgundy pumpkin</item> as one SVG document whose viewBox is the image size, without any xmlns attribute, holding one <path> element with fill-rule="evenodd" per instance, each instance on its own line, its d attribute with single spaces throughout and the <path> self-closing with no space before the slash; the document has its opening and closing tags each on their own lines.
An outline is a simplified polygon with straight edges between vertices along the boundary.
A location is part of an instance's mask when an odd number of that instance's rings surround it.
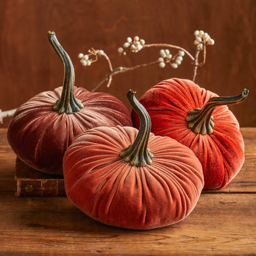
<svg viewBox="0 0 256 256">
<path fill-rule="evenodd" d="M 73 63 L 71 62 L 69 55 L 61 47 L 54 32 L 48 31 L 48 39 L 64 66 L 64 79 L 61 98 L 54 103 L 53 110 L 58 111 L 60 114 L 73 114 L 83 108 L 82 102 L 75 98 L 73 91 L 75 82 Z"/>
</svg>

